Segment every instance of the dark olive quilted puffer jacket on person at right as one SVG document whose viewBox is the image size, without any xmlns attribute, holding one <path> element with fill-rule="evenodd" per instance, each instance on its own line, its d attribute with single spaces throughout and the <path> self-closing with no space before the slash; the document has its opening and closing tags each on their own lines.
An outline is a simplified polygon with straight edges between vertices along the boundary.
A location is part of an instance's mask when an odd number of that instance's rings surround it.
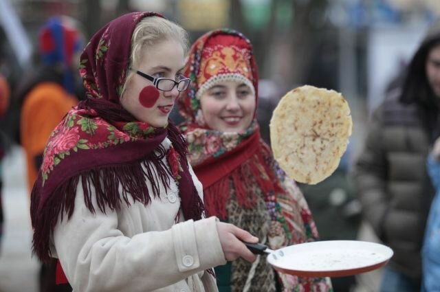
<svg viewBox="0 0 440 292">
<path fill-rule="evenodd" d="M 353 172 L 366 218 L 394 256 L 391 267 L 421 278 L 421 246 L 434 190 L 426 172 L 432 135 L 415 104 L 388 99 L 373 114 Z"/>
</svg>

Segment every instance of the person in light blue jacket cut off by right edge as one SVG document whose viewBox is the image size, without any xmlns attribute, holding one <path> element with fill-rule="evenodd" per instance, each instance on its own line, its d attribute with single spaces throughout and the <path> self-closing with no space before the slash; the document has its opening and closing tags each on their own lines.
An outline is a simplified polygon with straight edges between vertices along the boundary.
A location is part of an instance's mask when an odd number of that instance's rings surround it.
<svg viewBox="0 0 440 292">
<path fill-rule="evenodd" d="M 438 52 L 440 53 L 440 47 Z M 436 194 L 426 222 L 421 253 L 423 271 L 421 292 L 435 292 L 440 291 L 440 138 L 435 141 L 426 166 Z"/>
</svg>

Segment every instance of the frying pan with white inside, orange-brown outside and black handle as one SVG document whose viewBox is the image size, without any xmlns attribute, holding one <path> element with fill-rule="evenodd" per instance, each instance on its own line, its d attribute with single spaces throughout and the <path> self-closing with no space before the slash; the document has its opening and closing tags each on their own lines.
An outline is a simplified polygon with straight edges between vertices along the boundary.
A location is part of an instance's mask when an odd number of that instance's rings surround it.
<svg viewBox="0 0 440 292">
<path fill-rule="evenodd" d="M 386 265 L 393 250 L 360 240 L 322 240 L 272 250 L 261 243 L 245 243 L 254 254 L 268 254 L 277 271 L 302 277 L 344 277 Z"/>
</svg>

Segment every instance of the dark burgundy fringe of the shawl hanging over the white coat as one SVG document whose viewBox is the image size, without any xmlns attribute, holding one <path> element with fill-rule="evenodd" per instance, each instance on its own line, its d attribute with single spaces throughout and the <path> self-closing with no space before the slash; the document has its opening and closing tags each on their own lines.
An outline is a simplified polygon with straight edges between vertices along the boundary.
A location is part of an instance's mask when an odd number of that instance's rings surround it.
<svg viewBox="0 0 440 292">
<path fill-rule="evenodd" d="M 76 188 L 79 181 L 83 184 L 85 205 L 92 213 L 96 212 L 93 205 L 94 197 L 100 212 L 106 213 L 107 208 L 113 212 L 120 210 L 122 203 L 130 205 L 129 196 L 134 201 L 147 205 L 151 201 L 151 196 L 146 181 L 151 181 L 151 191 L 154 197 L 159 196 L 159 184 L 168 189 L 170 177 L 172 176 L 170 170 L 162 161 L 166 150 L 159 146 L 156 151 L 158 154 L 151 154 L 155 155 L 155 159 L 146 157 L 141 163 L 102 166 L 69 177 L 64 183 L 58 185 L 43 206 L 40 206 L 36 201 L 40 188 L 36 183 L 31 194 L 31 217 L 32 227 L 34 227 L 32 251 L 34 254 L 43 262 L 50 260 L 52 256 L 50 252 L 52 232 L 58 218 L 63 221 L 64 216 L 67 216 L 68 220 L 74 213 Z M 92 188 L 95 189 L 95 196 Z M 122 189 L 121 192 L 120 188 Z M 195 192 L 197 193 L 197 190 Z M 197 198 L 199 198 L 198 195 Z M 199 198 L 193 212 L 201 214 L 202 210 L 203 203 Z"/>
</svg>

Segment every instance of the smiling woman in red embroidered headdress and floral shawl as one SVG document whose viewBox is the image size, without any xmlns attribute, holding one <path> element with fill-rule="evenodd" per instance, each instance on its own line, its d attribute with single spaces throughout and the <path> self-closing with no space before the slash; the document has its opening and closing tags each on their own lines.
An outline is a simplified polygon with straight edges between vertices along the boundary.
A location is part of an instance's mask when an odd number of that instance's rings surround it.
<svg viewBox="0 0 440 292">
<path fill-rule="evenodd" d="M 192 83 L 178 100 L 188 159 L 210 215 L 278 249 L 318 239 L 296 183 L 274 161 L 256 122 L 258 73 L 252 45 L 234 30 L 214 30 L 192 45 L 184 68 Z M 278 273 L 259 256 L 216 267 L 220 291 L 332 291 L 329 279 Z"/>
</svg>

